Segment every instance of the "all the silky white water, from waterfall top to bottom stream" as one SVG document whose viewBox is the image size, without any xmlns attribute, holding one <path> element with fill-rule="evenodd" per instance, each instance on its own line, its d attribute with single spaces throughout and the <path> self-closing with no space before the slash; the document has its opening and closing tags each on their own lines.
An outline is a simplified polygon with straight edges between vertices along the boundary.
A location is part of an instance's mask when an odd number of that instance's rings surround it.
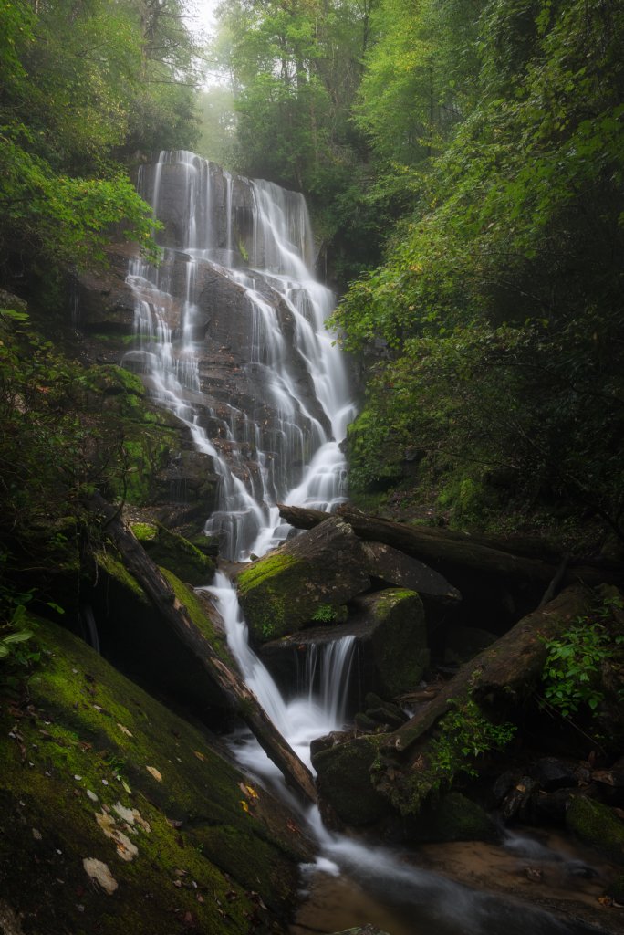
<svg viewBox="0 0 624 935">
<path fill-rule="evenodd" d="M 212 459 L 218 502 L 206 533 L 220 534 L 227 558 L 246 561 L 289 534 L 278 502 L 332 511 L 346 499 L 340 442 L 354 407 L 345 361 L 324 328 L 333 295 L 310 272 L 313 240 L 302 195 L 233 177 L 188 151 L 162 152 L 141 169 L 138 187 L 164 223 L 165 246 L 161 266 L 138 259 L 130 265 L 136 341 L 126 365 L 143 374 L 151 396 Z M 225 282 L 242 303 L 248 360 L 241 369 L 262 385 L 260 416 L 253 405 L 246 410 L 212 394 L 210 373 L 201 372 L 207 275 Z M 286 699 L 248 645 L 230 580 L 219 572 L 206 591 L 248 687 L 311 768 L 310 741 L 344 726 L 353 638 L 311 647 L 305 685 Z M 250 734 L 237 734 L 231 745 L 246 770 L 277 785 L 299 809 Z M 569 926 L 544 913 L 475 893 L 418 869 L 406 855 L 330 832 L 316 808 L 302 817 L 319 856 L 303 868 L 297 935 L 366 923 L 390 935 L 571 935 Z"/>
</svg>

